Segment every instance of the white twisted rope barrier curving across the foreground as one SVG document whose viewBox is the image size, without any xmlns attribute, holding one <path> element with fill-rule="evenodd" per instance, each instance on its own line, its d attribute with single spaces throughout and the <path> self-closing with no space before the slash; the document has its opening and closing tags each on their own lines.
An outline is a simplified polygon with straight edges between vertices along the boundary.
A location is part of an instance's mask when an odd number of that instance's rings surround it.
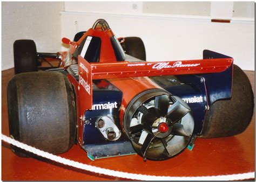
<svg viewBox="0 0 256 182">
<path fill-rule="evenodd" d="M 18 148 L 24 149 L 26 151 L 32 152 L 38 156 L 53 160 L 55 162 L 76 167 L 85 171 L 95 172 L 99 174 L 105 174 L 107 176 L 113 176 L 118 178 L 134 179 L 134 180 L 244 180 L 254 178 L 254 172 L 241 173 L 241 174 L 228 174 L 220 176 L 201 176 L 201 177 L 171 177 L 171 176 L 151 176 L 145 174 L 134 174 L 127 172 L 114 171 L 109 169 L 104 169 L 101 167 L 96 167 L 92 165 L 82 164 L 75 162 L 70 159 L 65 159 L 59 156 L 52 155 L 51 153 L 44 152 L 42 150 L 36 149 L 32 146 L 26 145 L 24 143 L 18 142 L 8 136 L 2 134 L 2 140 L 9 144 L 15 145 Z"/>
</svg>

